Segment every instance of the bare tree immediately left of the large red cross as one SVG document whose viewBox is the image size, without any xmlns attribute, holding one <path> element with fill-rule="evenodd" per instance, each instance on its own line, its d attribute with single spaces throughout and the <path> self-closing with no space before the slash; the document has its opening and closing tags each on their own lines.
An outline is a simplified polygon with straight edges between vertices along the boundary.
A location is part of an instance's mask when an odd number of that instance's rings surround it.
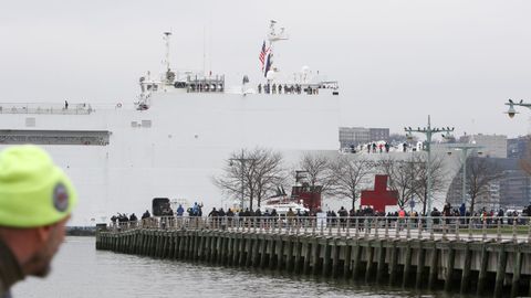
<svg viewBox="0 0 531 298">
<path fill-rule="evenodd" d="M 367 182 L 372 173 L 372 162 L 353 156 L 342 156 L 332 163 L 334 173 L 334 187 L 329 191 L 335 196 L 352 200 L 352 209 L 355 209 L 360 198 L 361 187 Z"/>
</svg>

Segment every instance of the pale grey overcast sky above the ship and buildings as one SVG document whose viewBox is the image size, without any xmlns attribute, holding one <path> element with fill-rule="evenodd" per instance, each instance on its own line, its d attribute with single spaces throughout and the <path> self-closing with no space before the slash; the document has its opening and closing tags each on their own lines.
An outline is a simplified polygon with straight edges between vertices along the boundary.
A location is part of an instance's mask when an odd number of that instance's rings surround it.
<svg viewBox="0 0 531 298">
<path fill-rule="evenodd" d="M 278 66 L 337 79 L 343 126 L 402 132 L 430 114 L 458 135 L 531 130 L 531 110 L 503 114 L 531 102 L 531 1 L 0 2 L 0 102 L 133 102 L 169 29 L 175 67 L 201 70 L 206 49 L 208 70 L 257 82 L 274 19 L 291 36 Z"/>
</svg>

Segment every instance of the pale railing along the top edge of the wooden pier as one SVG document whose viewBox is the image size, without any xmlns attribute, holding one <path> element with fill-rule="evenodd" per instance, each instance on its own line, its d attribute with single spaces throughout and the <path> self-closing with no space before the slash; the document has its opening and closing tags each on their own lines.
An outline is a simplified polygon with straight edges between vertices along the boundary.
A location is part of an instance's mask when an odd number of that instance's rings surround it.
<svg viewBox="0 0 531 298">
<path fill-rule="evenodd" d="M 135 228 L 212 230 L 241 233 L 418 238 L 513 241 L 531 243 L 531 217 L 315 217 L 315 216 L 168 216 L 111 224 L 113 232 Z"/>
</svg>

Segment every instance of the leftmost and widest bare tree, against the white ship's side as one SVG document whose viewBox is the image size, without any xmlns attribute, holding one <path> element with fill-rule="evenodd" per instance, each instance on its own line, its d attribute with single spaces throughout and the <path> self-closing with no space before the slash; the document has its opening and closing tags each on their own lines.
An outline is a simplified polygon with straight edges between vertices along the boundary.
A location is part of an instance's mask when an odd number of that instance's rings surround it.
<svg viewBox="0 0 531 298">
<path fill-rule="evenodd" d="M 226 160 L 223 173 L 214 183 L 223 194 L 260 206 L 261 201 L 285 179 L 282 155 L 270 149 L 257 148 L 235 151 Z"/>
</svg>

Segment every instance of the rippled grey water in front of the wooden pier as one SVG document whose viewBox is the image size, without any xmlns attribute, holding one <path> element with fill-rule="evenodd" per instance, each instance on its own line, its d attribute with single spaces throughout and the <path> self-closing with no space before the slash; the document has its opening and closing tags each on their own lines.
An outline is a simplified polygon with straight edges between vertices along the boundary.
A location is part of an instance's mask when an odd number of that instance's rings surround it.
<svg viewBox="0 0 531 298">
<path fill-rule="evenodd" d="M 29 278 L 14 297 L 450 297 L 399 288 L 215 267 L 98 252 L 93 237 L 67 237 L 46 279 Z M 457 296 L 456 296 L 457 297 Z"/>
</svg>

